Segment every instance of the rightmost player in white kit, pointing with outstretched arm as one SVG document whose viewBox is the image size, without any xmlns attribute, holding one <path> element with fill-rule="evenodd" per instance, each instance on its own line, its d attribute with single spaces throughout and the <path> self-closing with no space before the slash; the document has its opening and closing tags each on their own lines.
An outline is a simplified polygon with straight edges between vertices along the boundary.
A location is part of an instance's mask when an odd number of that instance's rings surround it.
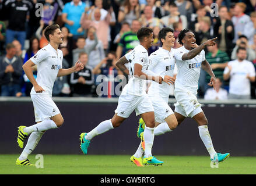
<svg viewBox="0 0 256 186">
<path fill-rule="evenodd" d="M 211 136 L 208 130 L 208 120 L 197 100 L 198 79 L 200 69 L 204 69 L 210 76 L 209 86 L 215 88 L 215 75 L 211 65 L 205 59 L 204 48 L 215 45 L 215 40 L 207 40 L 199 47 L 195 46 L 195 35 L 192 31 L 184 29 L 178 35 L 178 42 L 183 45 L 174 53 L 178 73 L 175 81 L 174 96 L 177 100 L 174 114 L 180 124 L 186 117 L 191 117 L 198 124 L 199 136 L 211 156 L 213 164 L 222 162 L 229 157 L 229 153 L 216 153 L 213 148 Z"/>
</svg>

